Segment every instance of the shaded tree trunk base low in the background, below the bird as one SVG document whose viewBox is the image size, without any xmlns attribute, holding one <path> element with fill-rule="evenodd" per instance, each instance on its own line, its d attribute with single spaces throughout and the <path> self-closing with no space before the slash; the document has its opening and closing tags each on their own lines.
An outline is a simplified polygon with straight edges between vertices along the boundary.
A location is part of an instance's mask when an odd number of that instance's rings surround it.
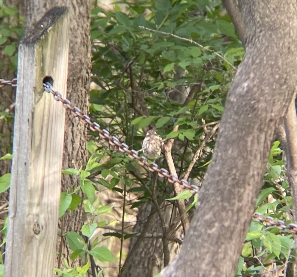
<svg viewBox="0 0 297 277">
<path fill-rule="evenodd" d="M 177 209 L 174 208 L 175 212 L 172 215 L 172 205 L 167 201 L 164 201 L 160 206 L 168 230 L 170 223 L 177 220 L 179 214 Z M 146 202 L 139 207 L 137 223 L 134 226 L 133 233 L 138 233 L 139 236 L 131 238 L 127 259 L 122 267 L 120 276 L 156 275 L 164 268 L 163 234 L 160 217 L 152 202 Z M 180 241 L 183 239 L 184 232 L 181 226 L 172 234 L 171 238 L 173 237 Z M 178 253 L 179 248 L 180 245 L 177 242 L 170 240 L 170 259 Z"/>
</svg>

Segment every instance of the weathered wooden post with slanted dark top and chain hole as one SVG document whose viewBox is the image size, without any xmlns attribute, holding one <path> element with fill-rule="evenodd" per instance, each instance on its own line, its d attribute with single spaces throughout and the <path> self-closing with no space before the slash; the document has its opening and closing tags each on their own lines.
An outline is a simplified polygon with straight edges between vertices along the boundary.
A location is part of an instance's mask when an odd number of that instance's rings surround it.
<svg viewBox="0 0 297 277">
<path fill-rule="evenodd" d="M 4 276 L 53 276 L 65 109 L 42 79 L 66 97 L 69 16 L 49 10 L 21 40 Z"/>
</svg>

